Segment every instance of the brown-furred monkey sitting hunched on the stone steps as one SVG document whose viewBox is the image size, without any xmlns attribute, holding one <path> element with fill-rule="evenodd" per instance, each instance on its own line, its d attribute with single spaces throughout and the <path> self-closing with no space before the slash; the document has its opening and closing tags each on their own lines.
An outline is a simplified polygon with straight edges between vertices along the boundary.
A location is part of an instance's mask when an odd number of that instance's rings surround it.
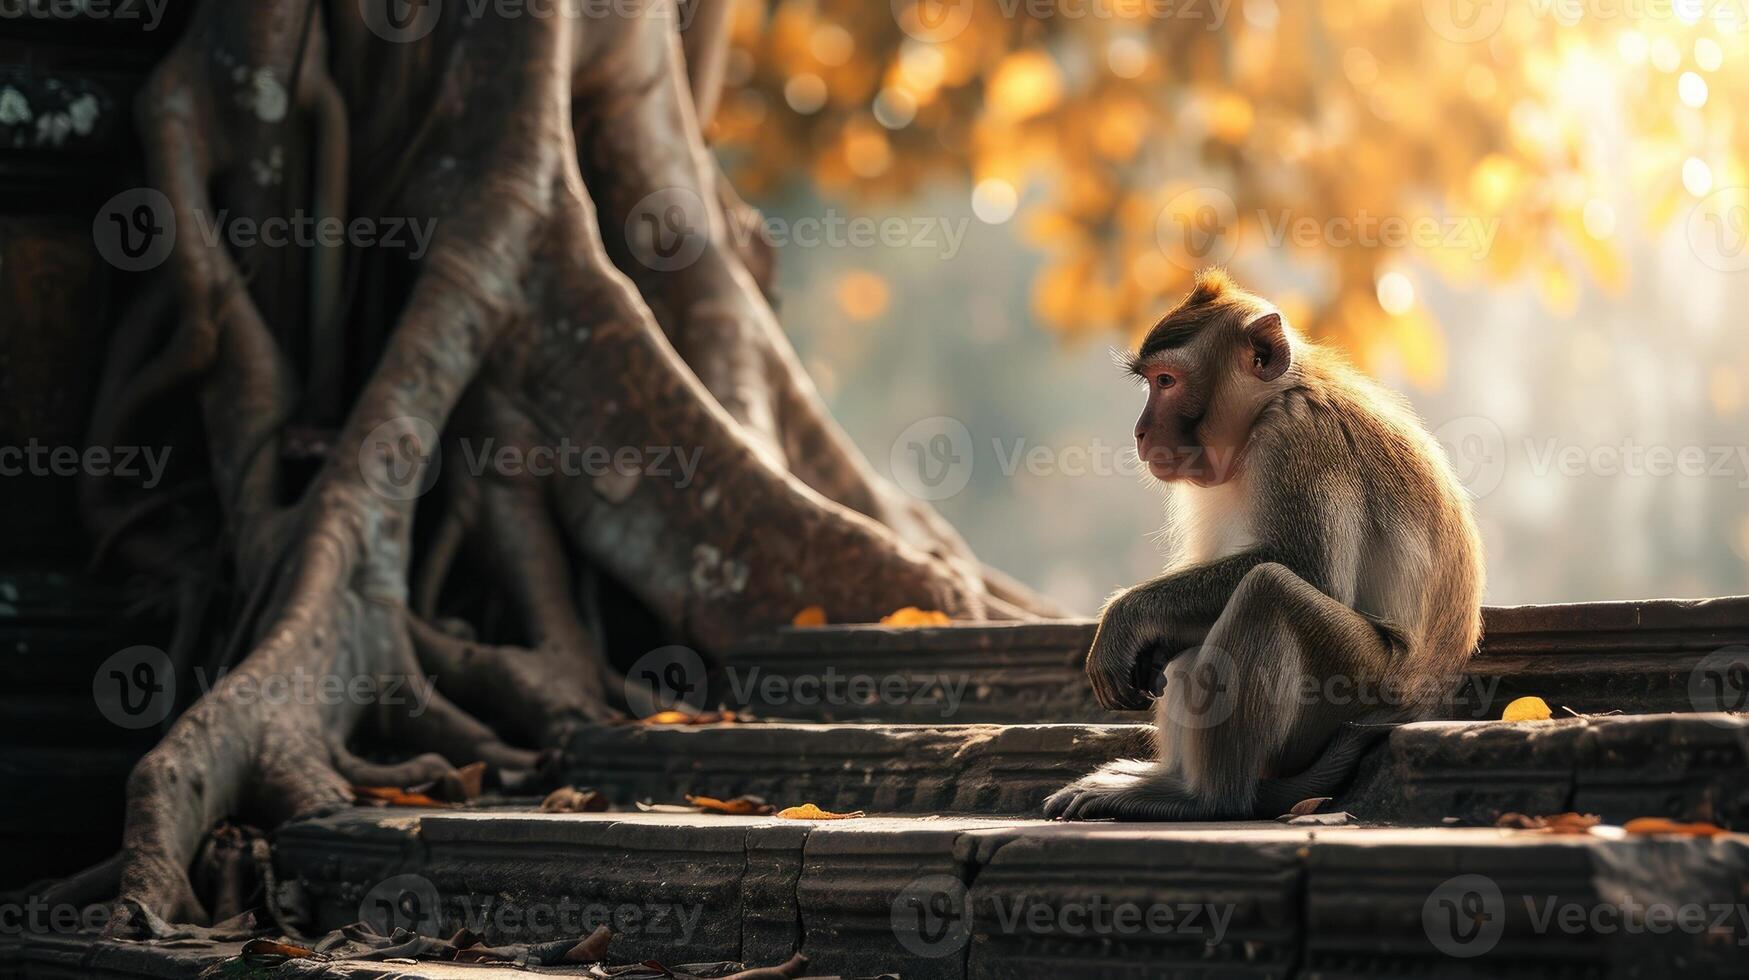
<svg viewBox="0 0 1749 980">
<path fill-rule="evenodd" d="M 1333 794 L 1373 723 L 1427 718 L 1476 649 L 1469 495 L 1401 396 L 1223 270 L 1125 362 L 1179 546 L 1107 600 L 1086 676 L 1107 709 L 1160 691 L 1156 758 L 1109 763 L 1044 814 L 1256 819 Z"/>
</svg>

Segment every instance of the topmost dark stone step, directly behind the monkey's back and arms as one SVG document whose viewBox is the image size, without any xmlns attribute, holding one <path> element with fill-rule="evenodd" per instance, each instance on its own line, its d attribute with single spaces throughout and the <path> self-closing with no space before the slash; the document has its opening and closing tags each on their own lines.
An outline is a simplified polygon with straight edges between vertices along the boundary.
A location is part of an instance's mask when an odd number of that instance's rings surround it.
<svg viewBox="0 0 1749 980">
<path fill-rule="evenodd" d="M 1537 695 L 1579 712 L 1749 709 L 1749 597 L 1488 607 L 1450 719 Z M 1093 700 L 1095 623 L 787 628 L 731 651 L 712 707 L 796 721 L 1135 721 Z"/>
</svg>

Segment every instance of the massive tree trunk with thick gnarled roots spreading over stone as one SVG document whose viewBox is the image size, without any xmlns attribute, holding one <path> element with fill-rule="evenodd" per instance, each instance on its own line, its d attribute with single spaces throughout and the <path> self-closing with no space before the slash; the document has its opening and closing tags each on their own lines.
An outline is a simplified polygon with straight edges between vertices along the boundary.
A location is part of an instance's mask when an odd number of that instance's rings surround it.
<svg viewBox="0 0 1749 980">
<path fill-rule="evenodd" d="M 173 663 L 233 668 L 129 779 L 124 917 L 208 919 L 187 866 L 220 819 L 533 770 L 614 718 L 603 581 L 707 653 L 806 606 L 1053 612 L 878 478 L 801 371 L 700 135 L 721 10 L 444 7 L 402 24 L 374 0 L 206 0 L 140 96 L 180 234 L 117 326 L 93 444 L 185 425 L 206 467 L 177 492 L 89 483 L 84 504 L 105 553 L 170 583 Z M 436 234 L 241 248 L 196 233 L 220 212 Z M 644 466 L 470 466 L 560 446 Z M 296 677 L 439 693 L 261 696 Z M 390 746 L 406 761 L 371 761 Z"/>
</svg>

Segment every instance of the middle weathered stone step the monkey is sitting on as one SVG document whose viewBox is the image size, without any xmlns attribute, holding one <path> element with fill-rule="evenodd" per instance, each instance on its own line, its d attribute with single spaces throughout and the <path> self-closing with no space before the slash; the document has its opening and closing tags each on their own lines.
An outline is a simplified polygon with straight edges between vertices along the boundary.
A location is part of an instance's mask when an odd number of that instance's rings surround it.
<svg viewBox="0 0 1749 980">
<path fill-rule="evenodd" d="M 1035 814 L 1069 780 L 1146 758 L 1137 724 L 624 724 L 586 728 L 567 779 L 612 802 L 684 794 L 885 814 Z M 1431 721 L 1389 733 L 1341 803 L 1394 822 L 1585 810 L 1749 826 L 1749 716 Z"/>
</svg>

